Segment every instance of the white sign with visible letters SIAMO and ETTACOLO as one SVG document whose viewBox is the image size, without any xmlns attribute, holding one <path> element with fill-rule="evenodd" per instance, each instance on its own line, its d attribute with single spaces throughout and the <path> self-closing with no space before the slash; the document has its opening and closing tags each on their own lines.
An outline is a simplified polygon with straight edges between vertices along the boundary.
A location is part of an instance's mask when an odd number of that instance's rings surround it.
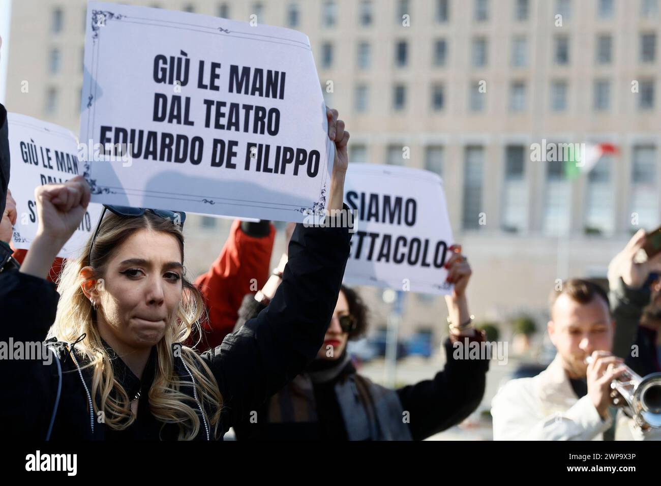
<svg viewBox="0 0 661 486">
<path fill-rule="evenodd" d="M 344 184 L 356 233 L 344 280 L 427 294 L 449 294 L 444 268 L 452 229 L 438 175 L 393 165 L 353 164 Z"/>
</svg>

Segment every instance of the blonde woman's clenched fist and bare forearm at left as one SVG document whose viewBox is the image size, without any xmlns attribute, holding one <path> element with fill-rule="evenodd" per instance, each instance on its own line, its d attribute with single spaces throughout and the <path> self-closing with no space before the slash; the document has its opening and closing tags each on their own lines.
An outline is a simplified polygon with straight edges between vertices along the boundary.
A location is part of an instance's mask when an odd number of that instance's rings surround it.
<svg viewBox="0 0 661 486">
<path fill-rule="evenodd" d="M 80 225 L 90 200 L 87 181 L 74 177 L 64 184 L 46 184 L 34 190 L 39 228 L 20 271 L 40 278 Z"/>
</svg>

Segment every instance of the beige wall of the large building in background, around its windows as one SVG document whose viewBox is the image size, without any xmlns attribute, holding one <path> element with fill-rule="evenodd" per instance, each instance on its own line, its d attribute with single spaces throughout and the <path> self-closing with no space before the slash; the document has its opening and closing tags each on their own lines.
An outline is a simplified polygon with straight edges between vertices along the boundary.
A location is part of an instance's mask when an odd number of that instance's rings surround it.
<svg viewBox="0 0 661 486">
<path fill-rule="evenodd" d="M 197 13 L 217 15 L 219 1 L 129 1 L 126 3 L 180 10 L 193 5 Z M 249 20 L 251 1 L 225 2 L 230 17 Z M 260 22 L 283 25 L 288 0 L 263 1 L 264 15 Z M 463 243 L 475 274 L 469 288 L 471 310 L 478 320 L 506 319 L 520 311 L 542 316 L 549 289 L 556 278 L 568 276 L 598 276 L 605 274 L 609 259 L 623 246 L 631 231 L 631 153 L 636 143 L 652 143 L 657 147 L 656 187 L 661 187 L 661 29 L 660 19 L 641 19 L 639 1 L 616 0 L 612 19 L 598 19 L 596 0 L 572 1 L 572 15 L 563 26 L 554 24 L 555 1 L 531 0 L 529 19 L 514 20 L 514 0 L 491 0 L 490 19 L 484 23 L 473 20 L 473 2 L 451 0 L 450 21 L 434 22 L 433 0 L 410 1 L 410 27 L 397 24 L 396 2 L 373 1 L 373 25 L 358 23 L 358 1 L 338 0 L 336 26 L 321 24 L 321 0 L 299 1 L 301 24 L 311 41 L 317 64 L 321 44 L 334 44 L 334 64 L 330 69 L 318 67 L 322 85 L 333 81 L 332 104 L 346 121 L 352 134 L 351 143 L 368 146 L 370 163 L 385 163 L 387 146 L 400 143 L 410 147 L 407 165 L 424 166 L 424 148 L 440 144 L 445 147 L 444 183 L 447 204 L 457 241 Z M 50 32 L 51 12 L 55 7 L 64 11 L 64 29 Z M 7 108 L 10 111 L 56 122 L 77 133 L 81 56 L 83 49 L 82 0 L 20 0 L 13 3 Z M 639 34 L 656 32 L 656 62 L 643 65 L 639 61 Z M 600 66 L 595 61 L 596 36 L 611 33 L 613 61 Z M 570 63 L 553 63 L 553 38 L 564 34 L 570 38 Z M 474 36 L 488 38 L 488 65 L 484 69 L 471 66 L 471 42 Z M 527 67 L 512 67 L 512 38 L 525 35 L 528 39 Z M 432 65 L 433 41 L 445 37 L 449 43 L 445 67 Z M 408 40 L 408 66 L 395 66 L 395 42 Z M 357 67 L 357 44 L 369 41 L 372 46 L 371 67 Z M 63 53 L 62 72 L 48 74 L 48 55 L 59 47 Z M 593 83 L 600 77 L 611 79 L 611 108 L 597 113 L 592 109 Z M 631 93 L 631 81 L 654 78 L 655 108 L 649 112 L 637 110 L 637 96 Z M 468 112 L 469 83 L 485 80 L 486 110 Z M 551 112 L 550 85 L 552 79 L 566 79 L 569 85 L 568 107 L 565 112 Z M 21 93 L 22 81 L 28 81 L 28 93 Z M 525 81 L 527 106 L 522 113 L 512 113 L 509 90 L 512 81 Z M 391 108 L 393 83 L 407 85 L 407 109 L 394 112 Z M 436 82 L 445 83 L 446 106 L 442 112 L 430 108 L 430 89 Z M 369 85 L 369 108 L 365 113 L 354 111 L 354 87 Z M 44 111 L 46 90 L 60 91 L 59 108 L 54 114 Z M 613 197 L 615 198 L 615 235 L 586 237 L 582 234 L 585 184 L 582 180 L 572 189 L 571 234 L 563 239 L 544 235 L 545 167 L 526 161 L 525 180 L 529 198 L 528 229 L 518 235 L 500 229 L 505 147 L 508 143 L 540 143 L 549 141 L 610 141 L 619 145 L 621 155 L 613 165 Z M 487 224 L 479 231 L 463 231 L 463 154 L 465 146 L 479 143 L 485 146 L 483 206 Z M 661 211 L 661 210 L 660 210 Z M 661 213 L 659 214 L 661 220 Z M 215 229 L 200 227 L 199 218 L 190 218 L 187 265 L 192 274 L 201 272 L 215 259 L 229 230 L 228 222 Z M 282 249 L 282 237 L 276 242 L 274 264 Z M 366 300 L 375 311 L 375 325 L 383 324 L 387 307 L 380 302 L 381 290 L 364 288 Z M 418 327 L 445 329 L 445 305 L 442 298 L 429 302 L 418 296 L 408 296 L 403 332 Z M 438 334 L 440 336 L 440 332 Z"/>
</svg>

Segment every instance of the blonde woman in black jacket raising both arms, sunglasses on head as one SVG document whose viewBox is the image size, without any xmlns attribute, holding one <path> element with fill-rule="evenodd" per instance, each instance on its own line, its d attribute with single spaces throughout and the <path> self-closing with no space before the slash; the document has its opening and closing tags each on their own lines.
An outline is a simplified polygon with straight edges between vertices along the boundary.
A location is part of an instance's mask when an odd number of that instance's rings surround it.
<svg viewBox="0 0 661 486">
<path fill-rule="evenodd" d="M 341 209 L 349 134 L 327 110 L 336 156 L 328 208 Z M 297 225 L 268 309 L 198 355 L 183 343 L 204 315 L 185 278 L 185 215 L 106 206 L 58 286 L 45 280 L 81 222 L 81 177 L 35 191 L 38 235 L 20 271 L 0 274 L 0 341 L 41 356 L 0 360 L 0 421 L 9 436 L 221 439 L 239 414 L 292 380 L 323 343 L 349 255 L 346 227 Z M 39 354 L 39 353 L 36 353 Z"/>
</svg>

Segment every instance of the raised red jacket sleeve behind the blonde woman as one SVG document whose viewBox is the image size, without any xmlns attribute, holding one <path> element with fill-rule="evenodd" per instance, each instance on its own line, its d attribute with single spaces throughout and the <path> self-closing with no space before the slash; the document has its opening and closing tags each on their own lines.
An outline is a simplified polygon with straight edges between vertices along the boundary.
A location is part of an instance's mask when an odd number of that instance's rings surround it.
<svg viewBox="0 0 661 486">
<path fill-rule="evenodd" d="M 219 346 L 239 319 L 245 294 L 255 293 L 266 284 L 276 228 L 269 225 L 266 237 L 249 236 L 236 220 L 217 260 L 209 271 L 195 280 L 209 309 L 209 320 L 202 325 L 202 351 Z M 254 280 L 253 280 L 254 279 Z"/>
</svg>

